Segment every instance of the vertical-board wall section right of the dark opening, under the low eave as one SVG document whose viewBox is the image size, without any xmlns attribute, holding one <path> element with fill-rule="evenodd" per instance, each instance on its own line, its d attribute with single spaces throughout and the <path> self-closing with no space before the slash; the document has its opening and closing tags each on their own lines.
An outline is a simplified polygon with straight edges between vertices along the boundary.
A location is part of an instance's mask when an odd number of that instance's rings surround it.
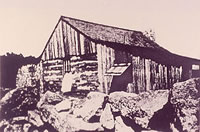
<svg viewBox="0 0 200 132">
<path fill-rule="evenodd" d="M 181 67 L 162 65 L 139 56 L 132 57 L 132 73 L 136 93 L 171 88 L 181 80 Z"/>
</svg>

